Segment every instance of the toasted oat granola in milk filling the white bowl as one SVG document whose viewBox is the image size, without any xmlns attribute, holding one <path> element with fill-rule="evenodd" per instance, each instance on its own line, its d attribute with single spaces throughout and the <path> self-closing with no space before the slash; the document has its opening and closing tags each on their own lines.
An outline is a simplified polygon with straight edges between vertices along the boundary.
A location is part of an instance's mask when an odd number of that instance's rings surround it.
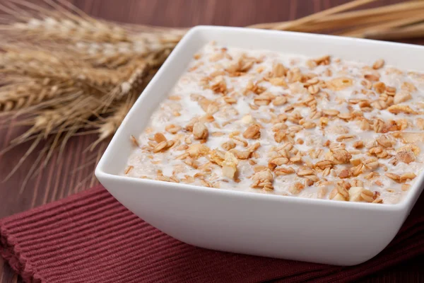
<svg viewBox="0 0 424 283">
<path fill-rule="evenodd" d="M 424 74 L 211 43 L 131 141 L 131 177 L 396 203 L 423 169 Z"/>
</svg>

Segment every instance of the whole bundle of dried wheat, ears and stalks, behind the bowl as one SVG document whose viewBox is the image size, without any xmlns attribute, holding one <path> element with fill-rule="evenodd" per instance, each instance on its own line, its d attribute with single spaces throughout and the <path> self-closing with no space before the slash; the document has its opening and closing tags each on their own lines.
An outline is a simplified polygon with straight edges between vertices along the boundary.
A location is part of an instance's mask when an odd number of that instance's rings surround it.
<svg viewBox="0 0 424 283">
<path fill-rule="evenodd" d="M 91 150 L 112 137 L 187 32 L 101 21 L 66 0 L 44 1 L 48 8 L 26 0 L 0 3 L 5 13 L 0 17 L 0 115 L 4 125 L 17 118 L 29 126 L 3 152 L 31 141 L 9 176 L 45 144 L 24 184 L 73 135 L 98 134 Z M 295 21 L 251 27 L 379 39 L 423 34 L 424 1 L 351 11 L 373 1 L 350 1 Z"/>
</svg>

